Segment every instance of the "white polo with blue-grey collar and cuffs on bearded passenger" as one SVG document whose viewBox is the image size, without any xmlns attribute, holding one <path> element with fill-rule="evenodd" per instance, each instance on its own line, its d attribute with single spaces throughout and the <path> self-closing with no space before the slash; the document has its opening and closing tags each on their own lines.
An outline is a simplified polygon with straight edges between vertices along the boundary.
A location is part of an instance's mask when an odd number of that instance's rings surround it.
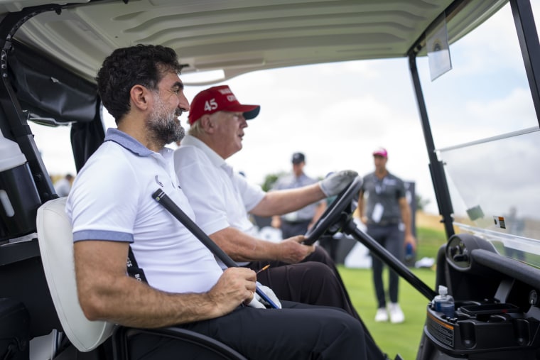
<svg viewBox="0 0 540 360">
<path fill-rule="evenodd" d="M 153 200 L 163 190 L 195 219 L 178 187 L 172 153 L 154 153 L 131 136 L 108 129 L 102 146 L 87 160 L 66 204 L 74 241 L 131 243 L 148 284 L 171 293 L 202 293 L 221 276 L 210 251 Z"/>
</svg>

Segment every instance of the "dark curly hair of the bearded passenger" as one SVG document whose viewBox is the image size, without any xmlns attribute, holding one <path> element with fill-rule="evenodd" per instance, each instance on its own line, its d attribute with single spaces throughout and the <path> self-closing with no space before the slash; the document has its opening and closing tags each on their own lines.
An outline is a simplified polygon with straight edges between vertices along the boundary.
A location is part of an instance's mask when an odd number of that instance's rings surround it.
<svg viewBox="0 0 540 360">
<path fill-rule="evenodd" d="M 131 87 L 139 84 L 156 89 L 167 72 L 180 74 L 181 69 L 178 56 L 171 48 L 141 44 L 119 48 L 105 58 L 97 72 L 97 92 L 118 124 L 129 112 Z"/>
</svg>

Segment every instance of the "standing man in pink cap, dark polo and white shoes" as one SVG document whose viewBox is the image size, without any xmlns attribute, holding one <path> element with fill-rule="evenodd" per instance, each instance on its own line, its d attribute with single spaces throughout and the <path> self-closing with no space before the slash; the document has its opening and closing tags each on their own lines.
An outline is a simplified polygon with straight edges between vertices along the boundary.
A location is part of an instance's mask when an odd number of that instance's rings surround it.
<svg viewBox="0 0 540 360">
<path fill-rule="evenodd" d="M 387 170 L 386 149 L 377 148 L 373 152 L 373 160 L 375 171 L 365 175 L 360 188 L 358 198 L 360 219 L 367 225 L 367 234 L 401 260 L 404 256 L 404 241 L 405 244 L 411 244 L 413 249 L 416 248 L 416 239 L 411 229 L 411 209 L 406 200 L 404 182 Z M 369 196 L 364 207 L 366 193 Z M 390 303 L 387 307 L 382 267 L 382 261 L 377 256 L 372 256 L 373 283 L 378 302 L 375 321 L 388 321 L 389 314 L 390 322 L 404 322 L 405 316 L 398 304 L 399 276 L 392 269 L 389 270 Z"/>
</svg>

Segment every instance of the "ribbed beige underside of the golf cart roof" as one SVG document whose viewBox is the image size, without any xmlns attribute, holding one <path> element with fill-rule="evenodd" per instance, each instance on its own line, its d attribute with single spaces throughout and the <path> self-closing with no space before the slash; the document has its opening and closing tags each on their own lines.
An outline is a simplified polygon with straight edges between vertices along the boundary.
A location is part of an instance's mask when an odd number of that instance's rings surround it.
<svg viewBox="0 0 540 360">
<path fill-rule="evenodd" d="M 507 1 L 477 0 L 448 29 L 450 43 Z M 14 38 L 93 82 L 115 48 L 161 44 L 176 50 L 183 74 L 222 70 L 227 80 L 254 70 L 320 62 L 397 58 L 463 1 L 453 0 L 139 0 L 58 2 Z M 49 5 L 45 5 L 49 4 Z M 0 13 L 47 0 L 0 1 Z M 54 6 L 53 6 L 54 7 Z M 61 11 L 61 16 L 58 12 Z M 212 81 L 195 81 L 204 84 Z"/>
</svg>

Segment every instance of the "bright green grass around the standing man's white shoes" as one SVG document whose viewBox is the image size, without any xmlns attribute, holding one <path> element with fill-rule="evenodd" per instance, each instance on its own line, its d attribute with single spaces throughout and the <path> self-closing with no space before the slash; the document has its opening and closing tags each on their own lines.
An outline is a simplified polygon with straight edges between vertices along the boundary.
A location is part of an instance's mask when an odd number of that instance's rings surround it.
<svg viewBox="0 0 540 360">
<path fill-rule="evenodd" d="M 446 243 L 443 231 L 419 228 L 417 258 L 436 257 L 436 253 L 442 244 Z M 404 360 L 416 359 L 419 342 L 426 321 L 426 306 L 429 300 L 418 290 L 414 289 L 405 280 L 399 281 L 399 305 L 405 314 L 405 322 L 391 324 L 390 322 L 374 322 L 377 302 L 372 283 L 371 269 L 339 267 L 343 281 L 347 286 L 353 305 L 360 313 L 369 332 L 375 339 L 382 351 L 386 352 L 390 359 L 400 354 Z M 426 283 L 430 288 L 435 288 L 435 270 L 428 268 L 411 268 L 411 271 Z M 387 270 L 383 273 L 384 283 L 388 283 Z"/>
</svg>

